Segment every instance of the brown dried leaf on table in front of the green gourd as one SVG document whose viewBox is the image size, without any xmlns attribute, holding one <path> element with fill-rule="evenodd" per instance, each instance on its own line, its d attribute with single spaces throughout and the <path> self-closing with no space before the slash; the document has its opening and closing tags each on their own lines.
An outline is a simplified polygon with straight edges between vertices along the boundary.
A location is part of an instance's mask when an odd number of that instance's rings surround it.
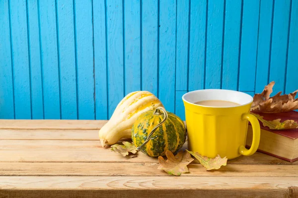
<svg viewBox="0 0 298 198">
<path fill-rule="evenodd" d="M 164 170 L 170 175 L 179 176 L 181 173 L 188 173 L 187 165 L 194 159 L 186 151 L 180 151 L 175 156 L 170 150 L 165 151 L 167 160 L 165 161 L 162 156 L 158 157 L 159 170 Z"/>
</svg>

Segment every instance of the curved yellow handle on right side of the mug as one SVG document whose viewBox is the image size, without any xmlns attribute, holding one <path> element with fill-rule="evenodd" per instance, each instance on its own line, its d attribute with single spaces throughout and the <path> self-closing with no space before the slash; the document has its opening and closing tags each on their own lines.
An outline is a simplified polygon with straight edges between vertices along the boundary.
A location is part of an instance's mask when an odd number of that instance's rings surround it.
<svg viewBox="0 0 298 198">
<path fill-rule="evenodd" d="M 251 147 L 249 149 L 245 148 L 243 145 L 241 145 L 238 148 L 238 152 L 241 153 L 242 155 L 252 155 L 253 153 L 255 153 L 259 147 L 259 143 L 260 143 L 260 123 L 258 121 L 258 119 L 250 114 L 250 113 L 244 113 L 241 116 L 241 119 L 247 119 L 252 126 L 252 143 L 251 143 Z"/>
</svg>

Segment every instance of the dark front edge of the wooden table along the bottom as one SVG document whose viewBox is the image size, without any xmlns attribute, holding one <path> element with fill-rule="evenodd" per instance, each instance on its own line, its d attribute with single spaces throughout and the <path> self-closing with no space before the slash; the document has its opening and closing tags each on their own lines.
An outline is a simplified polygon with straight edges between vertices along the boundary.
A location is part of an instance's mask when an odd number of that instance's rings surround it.
<svg viewBox="0 0 298 198">
<path fill-rule="evenodd" d="M 228 189 L 228 190 L 205 190 L 205 189 L 171 189 L 168 190 L 0 190 L 0 198 L 297 198 L 298 188 L 288 189 Z"/>
</svg>

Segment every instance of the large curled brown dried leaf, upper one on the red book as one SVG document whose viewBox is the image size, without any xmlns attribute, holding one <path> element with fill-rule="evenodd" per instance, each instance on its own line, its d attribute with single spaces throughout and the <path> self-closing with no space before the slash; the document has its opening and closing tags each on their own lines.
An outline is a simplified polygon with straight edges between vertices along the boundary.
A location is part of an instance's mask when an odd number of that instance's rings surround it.
<svg viewBox="0 0 298 198">
<path fill-rule="evenodd" d="M 282 92 L 270 97 L 275 82 L 265 86 L 261 94 L 255 94 L 250 110 L 253 112 L 279 113 L 298 109 L 298 99 L 295 99 L 298 90 L 281 96 Z"/>
</svg>

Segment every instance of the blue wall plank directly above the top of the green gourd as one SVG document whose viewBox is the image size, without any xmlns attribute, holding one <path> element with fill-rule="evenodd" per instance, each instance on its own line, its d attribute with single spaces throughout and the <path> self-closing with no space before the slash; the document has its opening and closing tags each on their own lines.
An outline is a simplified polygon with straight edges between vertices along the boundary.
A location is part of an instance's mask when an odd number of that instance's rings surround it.
<svg viewBox="0 0 298 198">
<path fill-rule="evenodd" d="M 158 98 L 175 111 L 176 0 L 159 2 Z"/>
</svg>

